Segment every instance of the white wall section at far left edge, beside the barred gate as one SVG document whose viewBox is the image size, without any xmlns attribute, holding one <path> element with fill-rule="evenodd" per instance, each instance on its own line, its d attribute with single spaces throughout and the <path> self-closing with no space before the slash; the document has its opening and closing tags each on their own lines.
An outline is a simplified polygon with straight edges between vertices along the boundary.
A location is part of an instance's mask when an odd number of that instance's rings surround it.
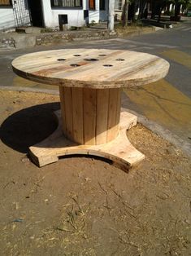
<svg viewBox="0 0 191 256">
<path fill-rule="evenodd" d="M 0 7 L 0 30 L 15 28 L 12 8 Z"/>
</svg>

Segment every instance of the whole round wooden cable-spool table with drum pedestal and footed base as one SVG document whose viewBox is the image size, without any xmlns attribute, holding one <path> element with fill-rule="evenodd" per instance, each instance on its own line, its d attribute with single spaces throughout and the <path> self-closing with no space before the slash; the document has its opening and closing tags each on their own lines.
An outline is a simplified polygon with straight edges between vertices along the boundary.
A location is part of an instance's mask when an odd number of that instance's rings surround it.
<svg viewBox="0 0 191 256">
<path fill-rule="evenodd" d="M 79 153 L 110 158 L 122 169 L 144 158 L 126 138 L 124 131 L 136 124 L 137 117 L 120 113 L 120 94 L 123 87 L 165 77 L 166 60 L 136 51 L 64 49 L 22 55 L 12 67 L 20 77 L 59 86 L 59 127 L 30 147 L 38 166 Z"/>
</svg>

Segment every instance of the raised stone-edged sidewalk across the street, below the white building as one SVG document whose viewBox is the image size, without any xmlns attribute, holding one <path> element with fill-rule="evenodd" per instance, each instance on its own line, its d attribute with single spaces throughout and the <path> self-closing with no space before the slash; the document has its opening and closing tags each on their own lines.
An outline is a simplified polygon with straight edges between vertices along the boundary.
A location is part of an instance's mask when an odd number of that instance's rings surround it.
<svg viewBox="0 0 191 256">
<path fill-rule="evenodd" d="M 36 29 L 37 30 L 37 29 Z M 0 49 L 16 48 L 23 49 L 33 46 L 58 44 L 73 41 L 88 41 L 117 38 L 123 35 L 140 35 L 141 33 L 152 33 L 154 27 L 142 27 L 120 30 L 119 33 L 110 33 L 107 29 L 85 28 L 74 31 L 52 32 L 52 33 L 0 33 Z"/>
</svg>

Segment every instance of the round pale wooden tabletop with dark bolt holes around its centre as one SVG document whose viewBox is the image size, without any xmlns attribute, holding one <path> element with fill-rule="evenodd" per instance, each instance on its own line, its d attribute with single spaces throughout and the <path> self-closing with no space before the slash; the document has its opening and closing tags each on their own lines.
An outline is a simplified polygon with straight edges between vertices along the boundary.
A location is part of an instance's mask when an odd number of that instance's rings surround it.
<svg viewBox="0 0 191 256">
<path fill-rule="evenodd" d="M 12 61 L 20 77 L 56 86 L 94 89 L 142 86 L 167 75 L 155 55 L 107 49 L 63 49 L 22 55 Z"/>
</svg>

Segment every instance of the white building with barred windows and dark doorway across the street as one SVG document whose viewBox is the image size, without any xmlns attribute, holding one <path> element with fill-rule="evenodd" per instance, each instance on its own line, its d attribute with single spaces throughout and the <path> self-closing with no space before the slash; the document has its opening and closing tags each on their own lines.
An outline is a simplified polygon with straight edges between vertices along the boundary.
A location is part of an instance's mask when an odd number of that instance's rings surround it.
<svg viewBox="0 0 191 256">
<path fill-rule="evenodd" d="M 117 0 L 121 1 L 121 0 Z M 108 20 L 109 0 L 0 0 L 0 30 L 81 27 Z"/>
</svg>

